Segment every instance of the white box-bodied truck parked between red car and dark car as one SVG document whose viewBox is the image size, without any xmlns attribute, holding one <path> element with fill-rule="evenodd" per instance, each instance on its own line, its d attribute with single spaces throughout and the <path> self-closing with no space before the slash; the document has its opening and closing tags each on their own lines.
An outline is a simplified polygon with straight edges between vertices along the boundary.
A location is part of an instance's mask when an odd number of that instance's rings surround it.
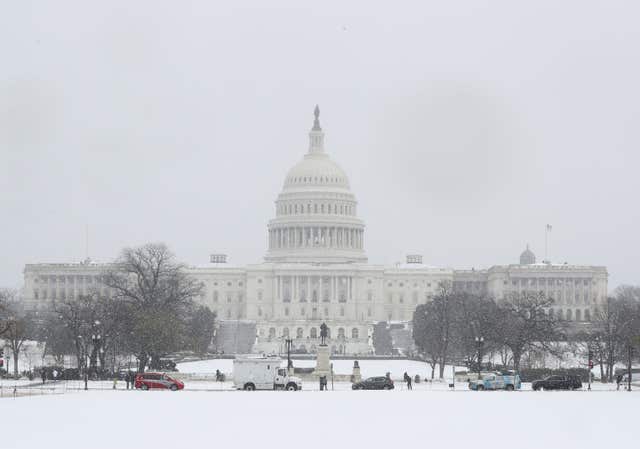
<svg viewBox="0 0 640 449">
<path fill-rule="evenodd" d="M 233 360 L 233 384 L 238 390 L 302 389 L 299 377 L 289 376 L 280 357 L 240 357 Z"/>
</svg>

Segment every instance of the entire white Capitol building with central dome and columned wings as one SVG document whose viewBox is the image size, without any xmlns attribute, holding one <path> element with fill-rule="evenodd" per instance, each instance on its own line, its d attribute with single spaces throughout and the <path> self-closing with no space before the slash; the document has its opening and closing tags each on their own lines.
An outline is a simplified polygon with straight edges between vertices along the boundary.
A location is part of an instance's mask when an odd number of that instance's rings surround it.
<svg viewBox="0 0 640 449">
<path fill-rule="evenodd" d="M 325 151 L 317 106 L 314 114 L 309 148 L 276 199 L 264 261 L 234 267 L 226 255 L 214 254 L 207 266 L 189 268 L 204 285 L 198 301 L 217 313 L 225 352 L 282 352 L 286 338 L 294 349 L 314 352 L 325 322 L 332 352 L 368 354 L 376 323 L 408 330 L 416 306 L 443 283 L 496 299 L 543 291 L 555 300 L 549 313 L 570 321 L 589 321 L 606 299 L 605 267 L 537 263 L 528 248 L 519 263 L 486 270 L 431 267 L 420 255 L 393 266 L 369 264 L 358 202 L 347 174 Z M 102 288 L 104 268 L 92 262 L 26 265 L 25 308 L 44 309 Z"/>
</svg>

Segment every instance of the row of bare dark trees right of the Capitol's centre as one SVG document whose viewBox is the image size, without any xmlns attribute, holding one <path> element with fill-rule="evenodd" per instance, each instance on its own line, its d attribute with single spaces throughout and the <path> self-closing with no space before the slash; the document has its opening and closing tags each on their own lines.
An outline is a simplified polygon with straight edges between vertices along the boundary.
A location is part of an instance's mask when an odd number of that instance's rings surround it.
<svg viewBox="0 0 640 449">
<path fill-rule="evenodd" d="M 640 355 L 640 287 L 622 286 L 598 308 L 590 323 L 575 332 L 569 322 L 549 313 L 554 300 L 542 292 L 523 292 L 496 301 L 440 286 L 432 301 L 413 315 L 413 339 L 420 355 L 444 376 L 446 364 L 478 369 L 500 360 L 520 370 L 523 357 L 567 353 L 600 365 L 611 380 L 616 364 L 629 353 Z M 635 352 L 634 352 L 635 350 Z"/>
</svg>

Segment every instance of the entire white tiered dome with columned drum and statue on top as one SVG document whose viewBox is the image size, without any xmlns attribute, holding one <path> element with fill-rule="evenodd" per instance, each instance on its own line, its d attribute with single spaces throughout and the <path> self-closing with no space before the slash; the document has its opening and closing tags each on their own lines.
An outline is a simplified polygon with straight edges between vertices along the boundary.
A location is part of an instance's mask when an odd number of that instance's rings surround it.
<svg viewBox="0 0 640 449">
<path fill-rule="evenodd" d="M 349 178 L 324 152 L 316 106 L 309 152 L 289 170 L 269 221 L 265 260 L 291 263 L 366 262 L 364 222 Z"/>
</svg>

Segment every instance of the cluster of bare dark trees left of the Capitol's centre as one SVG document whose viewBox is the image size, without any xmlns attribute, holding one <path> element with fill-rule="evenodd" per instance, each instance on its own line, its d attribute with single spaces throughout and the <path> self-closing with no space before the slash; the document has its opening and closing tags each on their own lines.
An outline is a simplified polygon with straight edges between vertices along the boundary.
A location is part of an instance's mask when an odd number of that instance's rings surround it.
<svg viewBox="0 0 640 449">
<path fill-rule="evenodd" d="M 115 370 L 125 354 L 136 358 L 138 371 L 161 369 L 167 354 L 208 351 L 216 316 L 195 302 L 203 288 L 166 245 L 126 248 L 102 273 L 100 286 L 50 310 L 24 312 L 15 290 L 0 290 L 0 338 L 12 352 L 16 376 L 27 340 L 42 342 L 44 355 L 60 365 L 74 354 L 89 373 Z"/>
</svg>

